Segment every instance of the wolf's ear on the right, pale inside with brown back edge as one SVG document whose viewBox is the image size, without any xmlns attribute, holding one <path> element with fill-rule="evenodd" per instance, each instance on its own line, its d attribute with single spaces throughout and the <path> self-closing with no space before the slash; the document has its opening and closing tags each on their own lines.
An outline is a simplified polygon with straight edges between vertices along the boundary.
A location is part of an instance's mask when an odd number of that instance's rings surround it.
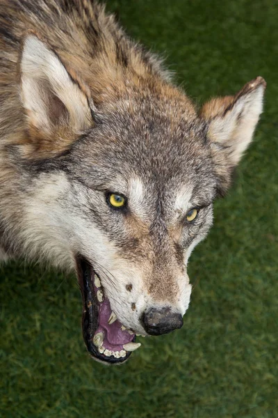
<svg viewBox="0 0 278 418">
<path fill-rule="evenodd" d="M 201 116 L 208 123 L 208 141 L 219 178 L 220 194 L 227 191 L 231 173 L 252 141 L 263 110 L 265 86 L 265 80 L 257 77 L 236 95 L 212 99 L 201 109 Z"/>
</svg>

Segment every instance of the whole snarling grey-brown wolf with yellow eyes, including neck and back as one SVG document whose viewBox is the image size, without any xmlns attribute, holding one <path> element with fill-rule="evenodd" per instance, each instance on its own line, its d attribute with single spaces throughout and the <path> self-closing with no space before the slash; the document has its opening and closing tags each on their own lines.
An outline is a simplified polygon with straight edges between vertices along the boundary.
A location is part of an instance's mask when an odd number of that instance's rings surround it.
<svg viewBox="0 0 278 418">
<path fill-rule="evenodd" d="M 83 338 L 120 364 L 183 325 L 188 258 L 265 81 L 197 109 L 94 0 L 0 1 L 0 257 L 74 270 Z"/>
</svg>

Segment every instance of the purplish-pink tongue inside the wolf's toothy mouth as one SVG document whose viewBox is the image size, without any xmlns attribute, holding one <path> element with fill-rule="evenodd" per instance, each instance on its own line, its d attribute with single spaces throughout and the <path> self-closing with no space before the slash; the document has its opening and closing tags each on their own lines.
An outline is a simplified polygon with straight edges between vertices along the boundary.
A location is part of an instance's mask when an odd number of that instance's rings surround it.
<svg viewBox="0 0 278 418">
<path fill-rule="evenodd" d="M 112 310 L 110 302 L 107 297 L 104 301 L 99 303 L 99 326 L 97 332 L 104 332 L 104 347 L 108 350 L 120 351 L 123 350 L 123 346 L 126 343 L 130 343 L 134 340 L 135 334 L 129 334 L 128 331 L 122 330 L 122 324 L 119 320 L 115 320 L 111 325 L 108 324 L 108 320 L 111 316 Z"/>
</svg>

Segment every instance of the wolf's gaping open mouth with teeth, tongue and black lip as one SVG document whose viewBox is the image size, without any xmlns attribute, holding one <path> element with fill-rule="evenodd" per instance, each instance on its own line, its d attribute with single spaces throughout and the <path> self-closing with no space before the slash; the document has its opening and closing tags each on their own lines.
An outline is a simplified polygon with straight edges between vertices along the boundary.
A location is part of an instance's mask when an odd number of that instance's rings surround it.
<svg viewBox="0 0 278 418">
<path fill-rule="evenodd" d="M 83 339 L 90 355 L 99 362 L 120 364 L 140 347 L 136 334 L 126 329 L 112 311 L 101 281 L 84 258 L 77 258 L 83 300 Z"/>
</svg>

